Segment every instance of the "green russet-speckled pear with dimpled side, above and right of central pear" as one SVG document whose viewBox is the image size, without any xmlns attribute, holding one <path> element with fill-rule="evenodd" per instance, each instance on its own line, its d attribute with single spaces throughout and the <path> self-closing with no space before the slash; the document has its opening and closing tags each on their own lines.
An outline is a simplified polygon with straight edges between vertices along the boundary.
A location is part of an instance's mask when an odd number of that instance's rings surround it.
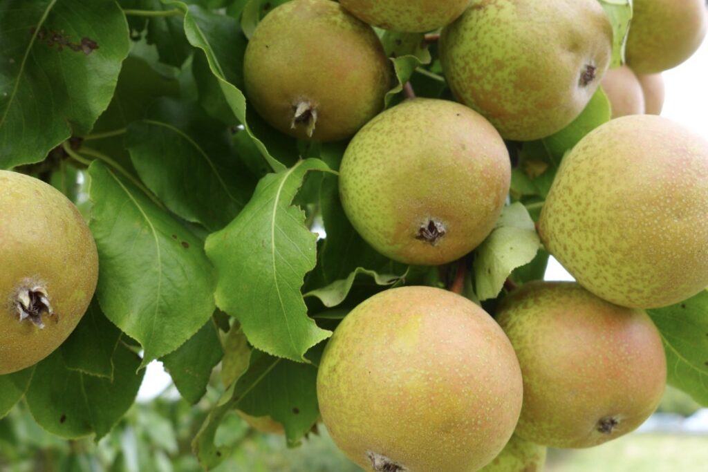
<svg viewBox="0 0 708 472">
<path fill-rule="evenodd" d="M 612 27 L 597 0 L 473 0 L 439 50 L 457 99 L 504 139 L 530 141 L 583 111 L 610 64 Z"/>
</svg>

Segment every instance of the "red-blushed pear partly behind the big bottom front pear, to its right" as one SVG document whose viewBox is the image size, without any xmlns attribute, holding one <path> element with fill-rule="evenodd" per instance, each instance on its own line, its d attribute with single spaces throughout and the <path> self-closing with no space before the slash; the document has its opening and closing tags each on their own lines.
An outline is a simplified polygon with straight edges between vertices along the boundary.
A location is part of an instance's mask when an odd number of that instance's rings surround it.
<svg viewBox="0 0 708 472">
<path fill-rule="evenodd" d="M 515 434 L 549 447 L 593 447 L 635 430 L 666 386 L 651 318 L 574 282 L 530 282 L 497 320 L 519 359 L 524 400 Z"/>
</svg>

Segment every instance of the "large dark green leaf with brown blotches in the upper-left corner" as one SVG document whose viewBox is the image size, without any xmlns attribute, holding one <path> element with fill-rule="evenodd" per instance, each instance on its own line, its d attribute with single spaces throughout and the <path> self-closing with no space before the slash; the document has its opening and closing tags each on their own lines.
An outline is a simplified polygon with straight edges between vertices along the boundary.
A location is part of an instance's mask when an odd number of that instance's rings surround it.
<svg viewBox="0 0 708 472">
<path fill-rule="evenodd" d="M 113 0 L 0 3 L 0 168 L 86 134 L 113 96 L 128 28 Z"/>
</svg>

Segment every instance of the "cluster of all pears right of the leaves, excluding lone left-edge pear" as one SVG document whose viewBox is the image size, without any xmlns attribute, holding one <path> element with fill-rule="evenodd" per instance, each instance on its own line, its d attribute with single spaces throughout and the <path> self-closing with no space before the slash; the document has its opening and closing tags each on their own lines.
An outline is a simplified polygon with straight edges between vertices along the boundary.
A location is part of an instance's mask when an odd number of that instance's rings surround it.
<svg viewBox="0 0 708 472">
<path fill-rule="evenodd" d="M 600 86 L 612 105 L 562 160 L 537 224 L 577 282 L 527 282 L 494 316 L 440 288 L 388 289 L 336 328 L 319 406 L 366 470 L 540 470 L 547 447 L 602 444 L 656 410 L 666 356 L 644 310 L 708 287 L 708 142 L 656 116 L 661 71 L 697 50 L 707 13 L 634 6 L 627 64 L 611 70 L 617 32 L 597 0 L 292 0 L 254 31 L 249 102 L 293 137 L 349 140 L 344 212 L 399 263 L 473 253 L 508 202 L 508 149 L 568 127 Z M 384 110 L 395 74 L 374 28 L 433 32 L 450 100 L 409 93 Z"/>
</svg>

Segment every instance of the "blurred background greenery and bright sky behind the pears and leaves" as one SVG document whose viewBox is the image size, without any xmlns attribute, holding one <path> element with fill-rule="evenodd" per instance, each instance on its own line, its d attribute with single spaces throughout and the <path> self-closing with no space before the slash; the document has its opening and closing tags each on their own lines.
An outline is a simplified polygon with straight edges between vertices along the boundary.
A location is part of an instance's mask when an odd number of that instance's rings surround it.
<svg viewBox="0 0 708 472">
<path fill-rule="evenodd" d="M 708 41 L 680 67 L 663 74 L 662 115 L 708 139 Z M 547 280 L 572 280 L 551 260 Z M 0 472 L 200 471 L 190 441 L 219 392 L 210 391 L 194 407 L 181 400 L 159 362 L 147 369 L 138 401 L 113 431 L 95 444 L 65 441 L 44 432 L 18 405 L 0 420 Z M 235 413 L 224 420 L 217 444 L 236 447 L 215 471 L 354 472 L 324 427 L 302 447 L 287 449 L 280 434 L 256 432 Z M 549 451 L 551 472 L 701 472 L 708 470 L 708 409 L 668 388 L 658 412 L 636 432 L 593 449 Z"/>
</svg>

